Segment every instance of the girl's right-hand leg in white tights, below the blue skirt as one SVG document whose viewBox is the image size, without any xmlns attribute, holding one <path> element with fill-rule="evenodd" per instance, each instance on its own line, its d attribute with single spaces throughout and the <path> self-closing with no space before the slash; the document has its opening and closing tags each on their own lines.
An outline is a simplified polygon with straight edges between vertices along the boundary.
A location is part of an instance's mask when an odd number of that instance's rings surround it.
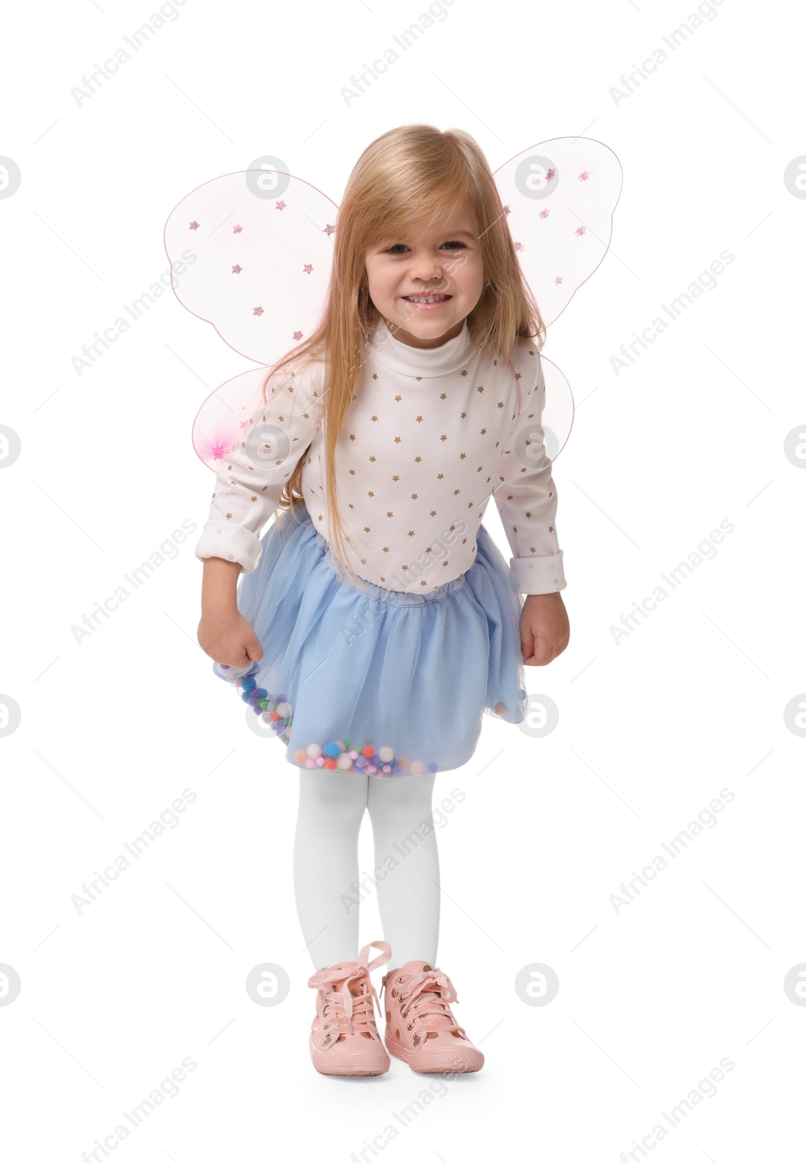
<svg viewBox="0 0 806 1163">
<path fill-rule="evenodd" d="M 375 863 L 390 869 L 378 880 L 378 907 L 384 940 L 392 947 L 390 965 L 397 969 L 409 961 L 436 963 L 440 858 L 431 819 L 434 778 L 368 776 Z"/>
</svg>

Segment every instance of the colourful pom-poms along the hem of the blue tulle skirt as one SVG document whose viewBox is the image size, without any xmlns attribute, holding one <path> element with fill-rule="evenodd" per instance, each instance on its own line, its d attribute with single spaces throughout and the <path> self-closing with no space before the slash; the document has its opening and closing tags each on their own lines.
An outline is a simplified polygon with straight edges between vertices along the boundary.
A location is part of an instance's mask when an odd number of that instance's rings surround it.
<svg viewBox="0 0 806 1163">
<path fill-rule="evenodd" d="M 241 692 L 243 701 L 269 723 L 278 739 L 288 745 L 291 723 L 294 708 L 285 694 L 269 694 L 257 685 L 255 675 L 259 666 L 252 663 L 249 670 L 237 670 L 235 666 L 220 664 L 223 678 Z M 326 771 L 361 771 L 366 776 L 385 779 L 393 776 L 422 776 L 438 770 L 436 763 L 423 763 L 422 759 L 409 759 L 405 755 L 395 755 L 391 747 L 379 747 L 376 750 L 371 739 L 364 740 L 358 747 L 349 739 L 331 743 L 308 743 L 307 748 L 294 751 L 293 762 L 298 768 L 323 768 Z"/>
</svg>

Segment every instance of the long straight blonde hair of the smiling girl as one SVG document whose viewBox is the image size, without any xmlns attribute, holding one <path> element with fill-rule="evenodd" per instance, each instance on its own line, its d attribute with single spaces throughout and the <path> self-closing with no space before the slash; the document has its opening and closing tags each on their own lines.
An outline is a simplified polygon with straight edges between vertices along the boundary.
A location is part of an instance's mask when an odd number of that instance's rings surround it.
<svg viewBox="0 0 806 1163">
<path fill-rule="evenodd" d="M 298 358 L 326 363 L 322 398 L 330 551 L 336 568 L 352 578 L 336 497 L 335 452 L 342 422 L 358 390 L 365 344 L 380 313 L 369 294 L 365 251 L 404 226 L 435 223 L 466 208 L 482 243 L 484 290 L 468 316 L 475 347 L 484 355 L 508 358 L 519 336 L 542 348 L 545 328 L 515 255 L 506 212 L 490 165 L 478 143 L 462 129 L 400 126 L 381 134 L 358 158 L 336 217 L 333 267 L 327 300 L 316 329 L 274 365 L 274 372 Z M 278 520 L 305 500 L 300 457 L 288 479 Z M 295 515 L 295 514 L 294 514 Z"/>
</svg>

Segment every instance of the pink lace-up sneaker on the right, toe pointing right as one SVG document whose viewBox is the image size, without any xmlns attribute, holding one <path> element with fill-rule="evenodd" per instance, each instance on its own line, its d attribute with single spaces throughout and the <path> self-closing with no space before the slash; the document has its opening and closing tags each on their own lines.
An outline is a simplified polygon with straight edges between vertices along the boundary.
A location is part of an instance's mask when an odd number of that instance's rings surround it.
<svg viewBox="0 0 806 1163">
<path fill-rule="evenodd" d="M 425 961 L 406 962 L 384 976 L 386 1049 L 422 1075 L 472 1073 L 484 1055 L 450 1011 L 454 984 Z"/>
</svg>

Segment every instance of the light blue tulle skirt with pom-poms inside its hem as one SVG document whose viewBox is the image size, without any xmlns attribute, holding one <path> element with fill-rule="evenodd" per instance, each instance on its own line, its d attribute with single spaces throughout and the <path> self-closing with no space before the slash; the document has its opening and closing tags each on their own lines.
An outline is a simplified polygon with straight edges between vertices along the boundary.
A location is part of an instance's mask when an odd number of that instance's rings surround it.
<svg viewBox="0 0 806 1163">
<path fill-rule="evenodd" d="M 480 526 L 476 561 L 430 593 L 336 577 L 304 506 L 272 522 L 238 609 L 264 650 L 249 671 L 215 664 L 297 766 L 378 777 L 459 768 L 484 712 L 522 722 L 522 599 Z"/>
</svg>

